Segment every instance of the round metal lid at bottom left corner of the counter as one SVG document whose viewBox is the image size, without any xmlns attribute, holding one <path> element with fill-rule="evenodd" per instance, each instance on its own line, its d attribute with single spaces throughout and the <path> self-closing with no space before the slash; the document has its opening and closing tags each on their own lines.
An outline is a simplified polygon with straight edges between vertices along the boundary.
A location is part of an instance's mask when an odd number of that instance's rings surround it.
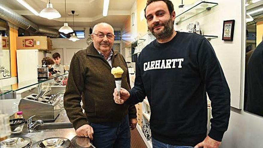
<svg viewBox="0 0 263 148">
<path fill-rule="evenodd" d="M 13 137 L 1 141 L 1 148 L 27 148 L 30 147 L 32 141 L 28 137 Z"/>
</svg>

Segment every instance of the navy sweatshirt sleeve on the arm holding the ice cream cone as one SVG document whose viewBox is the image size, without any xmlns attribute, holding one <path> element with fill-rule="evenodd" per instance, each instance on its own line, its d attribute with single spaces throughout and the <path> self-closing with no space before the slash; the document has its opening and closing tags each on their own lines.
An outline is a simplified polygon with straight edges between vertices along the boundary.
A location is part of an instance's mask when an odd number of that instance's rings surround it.
<svg viewBox="0 0 263 148">
<path fill-rule="evenodd" d="M 134 82 L 134 87 L 131 90 L 129 90 L 130 97 L 126 101 L 126 103 L 128 104 L 137 104 L 139 102 L 143 102 L 143 99 L 146 97 L 146 92 L 141 77 L 141 67 L 140 67 L 141 55 L 142 53 L 139 55 L 138 60 L 136 62 L 135 82 Z"/>
</svg>

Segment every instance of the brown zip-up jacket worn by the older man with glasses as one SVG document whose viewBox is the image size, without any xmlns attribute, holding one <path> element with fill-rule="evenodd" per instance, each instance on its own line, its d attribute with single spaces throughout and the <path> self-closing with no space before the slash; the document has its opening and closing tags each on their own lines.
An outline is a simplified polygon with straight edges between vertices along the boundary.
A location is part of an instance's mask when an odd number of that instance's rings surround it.
<svg viewBox="0 0 263 148">
<path fill-rule="evenodd" d="M 129 90 L 125 59 L 120 53 L 113 51 L 111 62 L 112 67 L 120 66 L 124 70 L 121 87 Z M 93 43 L 86 50 L 74 54 L 64 94 L 64 107 L 75 129 L 89 123 L 118 123 L 128 111 L 130 119 L 137 117 L 134 105 L 114 102 L 112 94 L 115 87 L 111 66 L 101 57 Z M 81 100 L 85 113 L 80 106 Z"/>
</svg>

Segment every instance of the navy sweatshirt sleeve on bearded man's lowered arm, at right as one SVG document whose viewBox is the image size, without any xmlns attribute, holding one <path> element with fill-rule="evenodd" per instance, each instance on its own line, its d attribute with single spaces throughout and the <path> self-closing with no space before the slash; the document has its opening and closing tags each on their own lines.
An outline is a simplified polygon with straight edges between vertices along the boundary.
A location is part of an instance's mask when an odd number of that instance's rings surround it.
<svg viewBox="0 0 263 148">
<path fill-rule="evenodd" d="M 197 58 L 200 75 L 212 105 L 209 137 L 222 141 L 230 118 L 230 90 L 215 51 L 207 39 L 201 41 Z"/>
</svg>

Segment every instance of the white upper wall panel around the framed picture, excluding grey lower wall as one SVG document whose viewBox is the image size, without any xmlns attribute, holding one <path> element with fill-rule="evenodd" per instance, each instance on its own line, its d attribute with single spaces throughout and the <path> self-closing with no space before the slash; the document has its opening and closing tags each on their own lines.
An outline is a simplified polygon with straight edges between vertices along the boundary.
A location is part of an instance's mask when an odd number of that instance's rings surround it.
<svg viewBox="0 0 263 148">
<path fill-rule="evenodd" d="M 235 7 L 233 7 L 235 6 Z M 223 21 L 234 19 L 234 40 L 223 41 Z M 204 35 L 218 36 L 212 39 L 212 44 L 218 60 L 223 68 L 225 77 L 231 91 L 231 106 L 240 109 L 240 80 L 241 80 L 241 2 L 240 0 L 218 0 L 218 5 L 212 10 L 192 17 L 177 27 L 178 30 L 186 30 L 188 23 L 198 21 Z"/>
</svg>

